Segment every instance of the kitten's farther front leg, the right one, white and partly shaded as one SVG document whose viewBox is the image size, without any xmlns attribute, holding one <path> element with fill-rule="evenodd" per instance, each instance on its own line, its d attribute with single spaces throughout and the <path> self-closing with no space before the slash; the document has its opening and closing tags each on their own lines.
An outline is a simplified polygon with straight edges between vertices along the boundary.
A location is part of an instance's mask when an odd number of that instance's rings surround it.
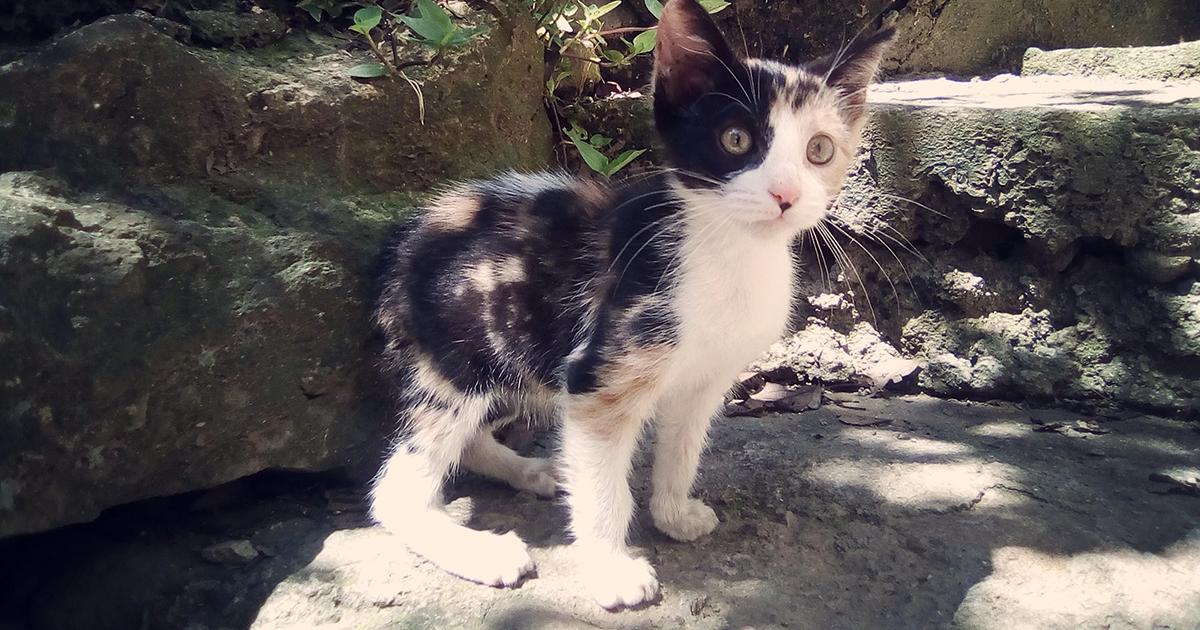
<svg viewBox="0 0 1200 630">
<path fill-rule="evenodd" d="M 690 541 L 708 535 L 720 522 L 712 508 L 689 493 L 707 442 L 708 425 L 725 390 L 722 382 L 670 392 L 659 407 L 650 516 L 659 532 L 676 540 Z"/>
</svg>

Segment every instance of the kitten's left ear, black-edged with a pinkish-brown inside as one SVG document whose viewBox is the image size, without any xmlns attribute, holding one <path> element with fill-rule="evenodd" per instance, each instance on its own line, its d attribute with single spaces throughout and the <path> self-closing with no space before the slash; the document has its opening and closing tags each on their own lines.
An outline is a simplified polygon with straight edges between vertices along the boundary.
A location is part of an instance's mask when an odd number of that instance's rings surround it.
<svg viewBox="0 0 1200 630">
<path fill-rule="evenodd" d="M 668 0 L 654 46 L 654 97 L 682 106 L 703 96 L 737 59 L 696 0 Z"/>
</svg>

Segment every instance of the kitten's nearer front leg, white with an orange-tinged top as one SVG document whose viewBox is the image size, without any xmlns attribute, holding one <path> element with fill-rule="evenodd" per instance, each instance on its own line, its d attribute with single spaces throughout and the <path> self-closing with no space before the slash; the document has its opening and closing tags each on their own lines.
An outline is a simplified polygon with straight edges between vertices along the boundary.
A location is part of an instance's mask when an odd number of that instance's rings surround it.
<svg viewBox="0 0 1200 630">
<path fill-rule="evenodd" d="M 634 515 L 629 473 L 648 404 L 620 389 L 570 395 L 563 419 L 562 469 L 581 576 L 601 606 L 655 599 L 654 568 L 625 544 Z"/>
</svg>

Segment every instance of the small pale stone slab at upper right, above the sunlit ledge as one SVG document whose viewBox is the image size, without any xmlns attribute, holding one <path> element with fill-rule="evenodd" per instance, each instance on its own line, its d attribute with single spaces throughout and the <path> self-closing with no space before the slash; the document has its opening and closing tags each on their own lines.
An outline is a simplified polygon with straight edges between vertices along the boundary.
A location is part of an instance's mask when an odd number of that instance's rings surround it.
<svg viewBox="0 0 1200 630">
<path fill-rule="evenodd" d="M 1200 79 L 1200 42 L 1140 48 L 1030 48 L 1021 74 L 1073 74 L 1128 79 Z"/>
</svg>

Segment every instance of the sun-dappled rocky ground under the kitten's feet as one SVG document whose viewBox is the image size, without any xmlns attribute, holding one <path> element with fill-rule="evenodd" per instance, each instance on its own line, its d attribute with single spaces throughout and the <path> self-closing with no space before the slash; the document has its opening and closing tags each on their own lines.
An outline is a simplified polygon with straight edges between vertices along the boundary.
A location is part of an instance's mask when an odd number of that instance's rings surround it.
<svg viewBox="0 0 1200 630">
<path fill-rule="evenodd" d="M 580 595 L 556 502 L 450 488 L 533 545 L 538 577 L 494 590 L 365 523 L 359 488 L 281 473 L 7 541 L 0 628 L 1200 628 L 1194 424 L 826 402 L 715 426 L 698 494 L 722 524 L 678 544 L 640 520 L 643 610 Z"/>
</svg>

